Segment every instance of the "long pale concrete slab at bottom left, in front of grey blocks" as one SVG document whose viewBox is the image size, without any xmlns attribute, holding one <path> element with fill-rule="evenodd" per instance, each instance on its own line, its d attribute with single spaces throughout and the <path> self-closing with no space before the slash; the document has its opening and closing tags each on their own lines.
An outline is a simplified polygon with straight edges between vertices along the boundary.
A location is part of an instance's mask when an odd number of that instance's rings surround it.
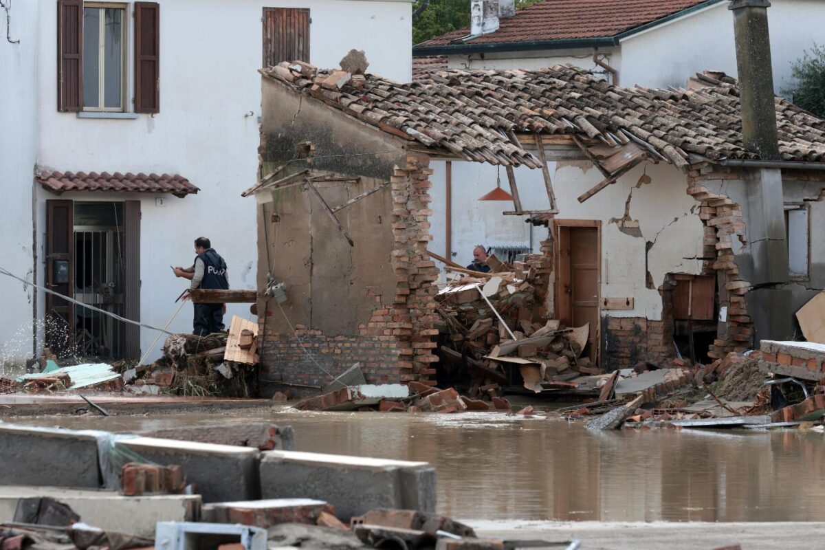
<svg viewBox="0 0 825 550">
<path fill-rule="evenodd" d="M 65 487 L 0 487 L 0 523 L 12 521 L 17 502 L 50 496 L 68 505 L 80 519 L 104 530 L 153 537 L 158 521 L 195 521 L 198 495 L 121 496 L 116 491 Z"/>
</svg>

